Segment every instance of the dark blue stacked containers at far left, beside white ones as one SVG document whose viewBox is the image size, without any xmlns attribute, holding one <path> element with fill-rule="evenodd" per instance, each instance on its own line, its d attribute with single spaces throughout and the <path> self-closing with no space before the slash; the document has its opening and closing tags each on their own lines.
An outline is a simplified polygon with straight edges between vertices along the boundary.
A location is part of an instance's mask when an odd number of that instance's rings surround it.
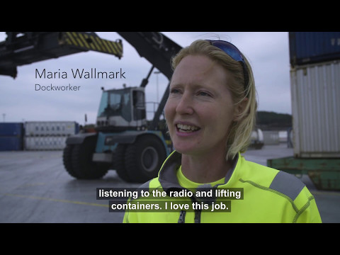
<svg viewBox="0 0 340 255">
<path fill-rule="evenodd" d="M 23 123 L 0 123 L 0 151 L 23 149 Z"/>
</svg>

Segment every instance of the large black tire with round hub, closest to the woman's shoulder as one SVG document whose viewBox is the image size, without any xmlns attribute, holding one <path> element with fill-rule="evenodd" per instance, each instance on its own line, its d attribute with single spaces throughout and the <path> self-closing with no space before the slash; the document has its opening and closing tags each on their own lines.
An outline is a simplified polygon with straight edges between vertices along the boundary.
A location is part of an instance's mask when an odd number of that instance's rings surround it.
<svg viewBox="0 0 340 255">
<path fill-rule="evenodd" d="M 165 159 L 162 141 L 154 135 L 142 135 L 125 150 L 125 171 L 131 182 L 144 183 L 157 177 Z"/>
</svg>

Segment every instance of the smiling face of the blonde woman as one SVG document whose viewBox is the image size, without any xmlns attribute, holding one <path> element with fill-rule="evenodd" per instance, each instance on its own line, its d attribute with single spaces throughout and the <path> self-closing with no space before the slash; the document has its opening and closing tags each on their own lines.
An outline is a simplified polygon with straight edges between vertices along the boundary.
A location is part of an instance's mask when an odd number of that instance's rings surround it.
<svg viewBox="0 0 340 255">
<path fill-rule="evenodd" d="M 174 148 L 182 154 L 225 153 L 234 120 L 229 72 L 203 55 L 188 55 L 174 70 L 164 108 Z"/>
</svg>

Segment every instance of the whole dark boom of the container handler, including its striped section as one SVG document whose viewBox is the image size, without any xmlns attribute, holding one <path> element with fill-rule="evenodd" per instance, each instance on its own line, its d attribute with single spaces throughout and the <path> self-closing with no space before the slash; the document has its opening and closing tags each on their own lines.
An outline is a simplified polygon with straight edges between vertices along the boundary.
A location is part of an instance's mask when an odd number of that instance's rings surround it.
<svg viewBox="0 0 340 255">
<path fill-rule="evenodd" d="M 145 57 L 152 64 L 147 79 L 156 67 L 169 81 L 171 80 L 173 72 L 171 57 L 181 50 L 180 45 L 159 32 L 117 33 L 135 47 L 140 57 Z M 116 42 L 103 40 L 94 32 L 6 32 L 6 34 L 6 40 L 0 42 L 0 75 L 13 78 L 16 78 L 17 67 L 20 65 L 79 52 L 94 50 L 118 58 L 123 56 L 121 40 Z M 141 86 L 147 86 L 147 79 L 142 80 Z M 168 94 L 169 85 L 152 120 L 150 127 L 152 130 L 157 130 Z"/>
</svg>

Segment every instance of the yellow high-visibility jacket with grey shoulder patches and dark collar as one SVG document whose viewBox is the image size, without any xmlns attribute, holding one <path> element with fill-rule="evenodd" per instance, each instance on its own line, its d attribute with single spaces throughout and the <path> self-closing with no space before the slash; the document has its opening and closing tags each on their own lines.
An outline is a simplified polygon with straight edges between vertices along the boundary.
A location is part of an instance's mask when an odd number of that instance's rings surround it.
<svg viewBox="0 0 340 255">
<path fill-rule="evenodd" d="M 174 200 L 169 195 L 170 191 L 187 191 L 189 188 L 179 185 L 176 177 L 179 166 L 181 166 L 181 154 L 174 151 L 164 161 L 158 177 L 147 181 L 141 188 L 149 191 L 154 189 L 165 191 L 166 199 Z M 210 201 L 203 202 L 210 203 L 209 210 L 202 210 L 202 207 L 197 206 L 191 207 L 190 210 L 183 208 L 172 211 L 125 210 L 123 222 L 322 222 L 314 196 L 300 179 L 284 171 L 246 161 L 241 154 L 237 155 L 233 168 L 227 172 L 225 183 L 211 188 L 225 191 L 243 188 L 243 196 L 242 199 L 230 200 L 229 210 L 225 211 L 211 211 L 212 202 L 217 204 L 220 198 L 209 198 Z M 142 199 L 142 197 L 137 198 L 134 202 L 142 203 Z M 200 200 L 195 196 L 180 199 L 189 199 L 191 202 Z M 211 201 L 211 199 L 215 200 Z M 222 201 L 225 203 L 225 200 Z"/>
</svg>

